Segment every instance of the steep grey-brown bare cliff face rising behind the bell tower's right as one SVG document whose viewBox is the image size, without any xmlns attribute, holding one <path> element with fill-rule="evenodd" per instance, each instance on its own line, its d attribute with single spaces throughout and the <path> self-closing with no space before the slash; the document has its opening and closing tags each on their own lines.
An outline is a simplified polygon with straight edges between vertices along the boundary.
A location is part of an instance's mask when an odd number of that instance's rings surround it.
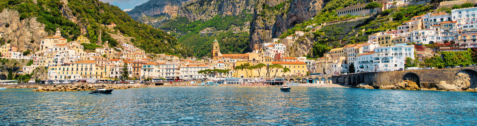
<svg viewBox="0 0 477 126">
<path fill-rule="evenodd" d="M 273 6 L 273 3 L 263 2 L 262 8 L 254 10 L 255 18 L 250 23 L 249 51 L 258 50 L 260 44 L 270 42 L 271 38 L 279 37 L 288 28 L 311 19 L 324 5 L 323 0 L 291 0 L 284 1 L 279 10 L 270 10 L 263 8 L 263 4 Z"/>
</svg>

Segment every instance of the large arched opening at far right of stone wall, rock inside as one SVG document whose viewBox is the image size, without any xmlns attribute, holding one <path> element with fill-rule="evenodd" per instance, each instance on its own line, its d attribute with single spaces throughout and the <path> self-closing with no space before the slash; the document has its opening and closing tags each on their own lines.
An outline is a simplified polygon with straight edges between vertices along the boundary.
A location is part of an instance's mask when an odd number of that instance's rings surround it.
<svg viewBox="0 0 477 126">
<path fill-rule="evenodd" d="M 469 70 L 469 69 L 461 70 L 457 72 L 454 77 L 454 83 L 456 82 L 459 82 L 460 85 L 469 83 L 470 85 L 468 88 L 472 88 L 472 89 L 476 88 L 477 87 L 477 72 L 474 70 Z M 466 89 L 462 89 L 462 90 L 466 90 Z"/>
</svg>

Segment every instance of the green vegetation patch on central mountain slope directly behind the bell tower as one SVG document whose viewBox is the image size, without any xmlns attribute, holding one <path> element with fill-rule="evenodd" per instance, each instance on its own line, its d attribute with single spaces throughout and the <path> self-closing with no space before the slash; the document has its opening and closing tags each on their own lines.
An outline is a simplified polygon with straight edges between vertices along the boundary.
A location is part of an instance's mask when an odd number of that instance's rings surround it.
<svg viewBox="0 0 477 126">
<path fill-rule="evenodd" d="M 210 56 L 210 44 L 214 39 L 219 41 L 222 54 L 236 54 L 242 53 L 249 45 L 249 34 L 232 33 L 231 28 L 240 27 L 240 30 L 246 28 L 244 23 L 250 18 L 252 16 L 245 14 L 245 11 L 240 16 L 216 16 L 207 21 L 190 21 L 185 17 L 177 17 L 165 23 L 161 29 L 186 33 L 187 35 L 181 36 L 178 41 L 181 45 L 193 49 L 197 57 Z M 212 36 L 209 34 L 201 36 L 200 31 L 208 27 L 215 29 L 216 32 L 209 33 Z"/>
</svg>

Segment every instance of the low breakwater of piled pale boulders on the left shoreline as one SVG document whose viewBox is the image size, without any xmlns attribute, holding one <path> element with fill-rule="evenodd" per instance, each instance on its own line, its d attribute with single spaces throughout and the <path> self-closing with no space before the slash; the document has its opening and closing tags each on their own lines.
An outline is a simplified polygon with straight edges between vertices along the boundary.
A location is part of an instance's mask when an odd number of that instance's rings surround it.
<svg viewBox="0 0 477 126">
<path fill-rule="evenodd" d="M 79 91 L 79 90 L 95 90 L 95 86 L 105 86 L 106 89 L 128 89 L 128 88 L 142 88 L 147 87 L 144 84 L 104 84 L 104 83 L 80 83 L 80 84 L 63 84 L 52 85 L 47 87 L 39 86 L 38 89 L 33 91 Z"/>
</svg>

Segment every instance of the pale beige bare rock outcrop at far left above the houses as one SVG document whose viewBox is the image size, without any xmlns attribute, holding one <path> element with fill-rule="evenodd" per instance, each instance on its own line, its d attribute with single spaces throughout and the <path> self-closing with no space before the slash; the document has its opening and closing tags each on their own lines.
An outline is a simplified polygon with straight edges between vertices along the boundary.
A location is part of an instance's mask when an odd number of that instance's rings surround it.
<svg viewBox="0 0 477 126">
<path fill-rule="evenodd" d="M 3 32 L 7 42 L 11 40 L 12 46 L 18 46 L 20 52 L 28 49 L 38 51 L 40 40 L 48 36 L 45 25 L 36 21 L 36 18 L 20 20 L 20 14 L 11 9 L 3 9 L 0 13 L 0 32 Z"/>
</svg>

